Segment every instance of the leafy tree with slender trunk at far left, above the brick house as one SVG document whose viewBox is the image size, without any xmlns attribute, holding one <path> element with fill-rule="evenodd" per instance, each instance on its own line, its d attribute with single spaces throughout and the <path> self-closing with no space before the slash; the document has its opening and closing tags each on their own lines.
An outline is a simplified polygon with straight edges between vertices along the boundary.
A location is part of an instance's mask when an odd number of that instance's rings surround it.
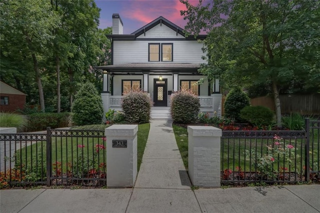
<svg viewBox="0 0 320 213">
<path fill-rule="evenodd" d="M 39 92 L 41 110 L 44 111 L 44 95 L 41 81 L 43 68 L 41 54 L 47 51 L 52 41 L 51 31 L 57 23 L 57 16 L 50 10 L 46 0 L 3 0 L 1 12 L 1 43 L 9 43 L 7 55 L 14 52 L 25 55 L 33 63 L 35 81 Z M 12 48 L 10 48 L 12 47 Z"/>
</svg>

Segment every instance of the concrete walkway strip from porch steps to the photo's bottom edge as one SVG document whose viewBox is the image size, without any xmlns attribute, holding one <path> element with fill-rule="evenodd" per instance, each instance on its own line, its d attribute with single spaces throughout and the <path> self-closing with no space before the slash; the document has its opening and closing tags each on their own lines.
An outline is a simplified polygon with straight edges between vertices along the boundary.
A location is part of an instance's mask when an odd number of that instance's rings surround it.
<svg viewBox="0 0 320 213">
<path fill-rule="evenodd" d="M 152 120 L 127 212 L 201 212 L 171 121 Z"/>
</svg>

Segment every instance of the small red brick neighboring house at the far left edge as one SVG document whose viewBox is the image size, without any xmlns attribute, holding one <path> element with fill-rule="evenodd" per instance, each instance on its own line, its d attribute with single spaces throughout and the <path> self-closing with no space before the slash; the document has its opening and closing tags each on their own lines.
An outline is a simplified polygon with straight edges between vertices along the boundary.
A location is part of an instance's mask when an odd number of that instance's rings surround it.
<svg viewBox="0 0 320 213">
<path fill-rule="evenodd" d="M 25 94 L 2 81 L 0 81 L 0 98 L 1 112 L 22 110 L 25 104 Z"/>
</svg>

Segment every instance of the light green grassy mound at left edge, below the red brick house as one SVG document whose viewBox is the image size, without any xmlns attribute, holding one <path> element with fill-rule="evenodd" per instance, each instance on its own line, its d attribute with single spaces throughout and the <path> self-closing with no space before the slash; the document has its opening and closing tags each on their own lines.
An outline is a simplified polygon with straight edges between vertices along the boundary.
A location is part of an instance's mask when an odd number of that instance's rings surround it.
<svg viewBox="0 0 320 213">
<path fill-rule="evenodd" d="M 17 131 L 21 130 L 26 120 L 21 114 L 0 113 L 0 127 L 16 127 Z"/>
</svg>

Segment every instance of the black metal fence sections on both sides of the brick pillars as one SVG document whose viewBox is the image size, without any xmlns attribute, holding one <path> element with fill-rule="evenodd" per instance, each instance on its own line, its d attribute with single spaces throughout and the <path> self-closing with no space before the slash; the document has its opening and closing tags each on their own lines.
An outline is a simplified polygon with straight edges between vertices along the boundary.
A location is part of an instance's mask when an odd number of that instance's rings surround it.
<svg viewBox="0 0 320 213">
<path fill-rule="evenodd" d="M 0 134 L 0 188 L 106 184 L 104 130 Z M 320 180 L 320 120 L 301 131 L 222 131 L 221 183 Z"/>
</svg>

